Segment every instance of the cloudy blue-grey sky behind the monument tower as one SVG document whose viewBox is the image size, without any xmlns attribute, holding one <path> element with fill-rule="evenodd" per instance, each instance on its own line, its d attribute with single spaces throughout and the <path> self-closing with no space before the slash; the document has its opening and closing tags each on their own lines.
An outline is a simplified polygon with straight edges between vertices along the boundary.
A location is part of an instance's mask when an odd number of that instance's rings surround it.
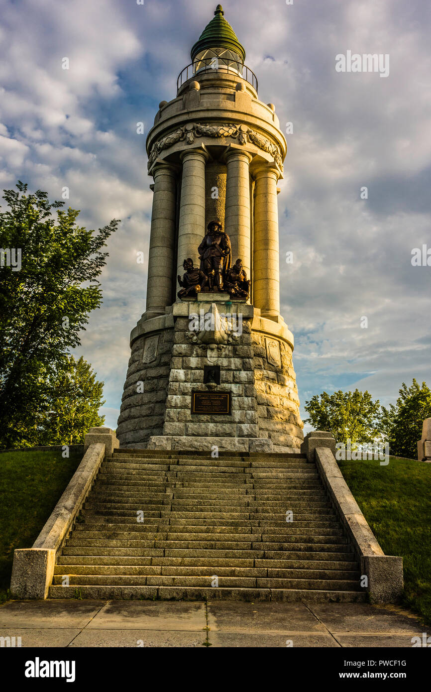
<svg viewBox="0 0 431 692">
<path fill-rule="evenodd" d="M 102 275 L 104 304 L 79 349 L 105 382 L 113 428 L 129 333 L 145 311 L 147 268 L 136 263 L 138 251 L 147 255 L 152 204 L 145 136 L 158 103 L 175 97 L 216 4 L 0 0 L 0 188 L 21 179 L 59 199 L 67 186 L 82 225 L 122 219 Z M 280 181 L 280 277 L 301 402 L 358 387 L 388 403 L 412 377 L 431 385 L 431 267 L 411 262 L 413 248 L 431 248 L 429 0 L 223 8 L 259 98 L 275 104 L 282 129 L 293 123 Z M 336 55 L 347 51 L 389 55 L 389 75 L 337 72 Z"/>
</svg>

